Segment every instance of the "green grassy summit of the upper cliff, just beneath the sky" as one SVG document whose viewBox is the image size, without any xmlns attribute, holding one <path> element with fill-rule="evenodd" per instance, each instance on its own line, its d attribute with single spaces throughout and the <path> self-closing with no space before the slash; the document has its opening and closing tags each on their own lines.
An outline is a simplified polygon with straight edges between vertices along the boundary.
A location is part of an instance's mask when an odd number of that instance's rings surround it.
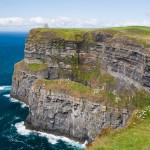
<svg viewBox="0 0 150 150">
<path fill-rule="evenodd" d="M 65 41 L 82 41 L 88 39 L 89 42 L 95 40 L 95 35 L 102 34 L 105 37 L 126 37 L 129 40 L 150 47 L 150 27 L 129 26 L 113 28 L 35 28 L 32 29 L 29 38 L 34 40 L 65 40 Z"/>
</svg>

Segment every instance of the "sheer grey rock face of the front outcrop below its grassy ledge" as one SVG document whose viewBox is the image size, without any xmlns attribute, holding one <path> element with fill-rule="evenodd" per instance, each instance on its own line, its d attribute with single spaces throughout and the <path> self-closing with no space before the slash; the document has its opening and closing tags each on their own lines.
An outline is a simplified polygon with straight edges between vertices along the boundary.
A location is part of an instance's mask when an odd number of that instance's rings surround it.
<svg viewBox="0 0 150 150">
<path fill-rule="evenodd" d="M 29 107 L 28 125 L 80 142 L 91 142 L 103 128 L 123 128 L 130 116 L 127 109 L 106 107 L 89 97 L 76 98 L 57 88 L 46 89 L 44 83 L 37 81 L 31 88 Z"/>
</svg>

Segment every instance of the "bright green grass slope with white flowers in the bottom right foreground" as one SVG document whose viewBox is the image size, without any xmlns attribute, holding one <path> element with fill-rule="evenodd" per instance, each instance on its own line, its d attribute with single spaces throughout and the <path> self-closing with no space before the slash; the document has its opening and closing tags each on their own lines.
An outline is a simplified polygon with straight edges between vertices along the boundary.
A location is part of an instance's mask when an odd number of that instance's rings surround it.
<svg viewBox="0 0 150 150">
<path fill-rule="evenodd" d="M 134 112 L 126 128 L 105 129 L 87 150 L 150 150 L 150 106 Z"/>
</svg>

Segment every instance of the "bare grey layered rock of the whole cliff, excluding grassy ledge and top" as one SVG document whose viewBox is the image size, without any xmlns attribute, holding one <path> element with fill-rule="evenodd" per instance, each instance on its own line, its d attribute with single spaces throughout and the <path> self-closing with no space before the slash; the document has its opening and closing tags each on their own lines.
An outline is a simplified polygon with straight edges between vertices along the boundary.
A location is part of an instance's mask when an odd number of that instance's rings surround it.
<svg viewBox="0 0 150 150">
<path fill-rule="evenodd" d="M 130 91 L 131 86 L 150 91 L 150 48 L 106 31 L 76 35 L 75 40 L 53 34 L 31 30 L 26 40 L 25 59 L 15 66 L 11 96 L 29 105 L 27 123 L 38 130 L 81 141 L 93 140 L 105 127 L 124 127 L 130 116 L 128 110 L 109 107 L 108 111 L 100 102 L 72 97 L 59 89 L 45 89 L 43 84 L 37 87 L 35 82 L 65 78 L 99 88 L 93 81 L 79 78 L 83 74 L 87 78 L 86 73 L 96 68 L 116 79 L 108 87 L 110 91 Z"/>
</svg>

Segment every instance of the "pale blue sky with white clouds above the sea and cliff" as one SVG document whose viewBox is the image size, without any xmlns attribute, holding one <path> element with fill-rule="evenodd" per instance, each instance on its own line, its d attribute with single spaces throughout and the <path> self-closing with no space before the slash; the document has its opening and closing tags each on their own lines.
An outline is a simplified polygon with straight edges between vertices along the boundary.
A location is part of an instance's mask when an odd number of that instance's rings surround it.
<svg viewBox="0 0 150 150">
<path fill-rule="evenodd" d="M 0 31 L 150 26 L 150 0 L 0 0 Z"/>
</svg>

